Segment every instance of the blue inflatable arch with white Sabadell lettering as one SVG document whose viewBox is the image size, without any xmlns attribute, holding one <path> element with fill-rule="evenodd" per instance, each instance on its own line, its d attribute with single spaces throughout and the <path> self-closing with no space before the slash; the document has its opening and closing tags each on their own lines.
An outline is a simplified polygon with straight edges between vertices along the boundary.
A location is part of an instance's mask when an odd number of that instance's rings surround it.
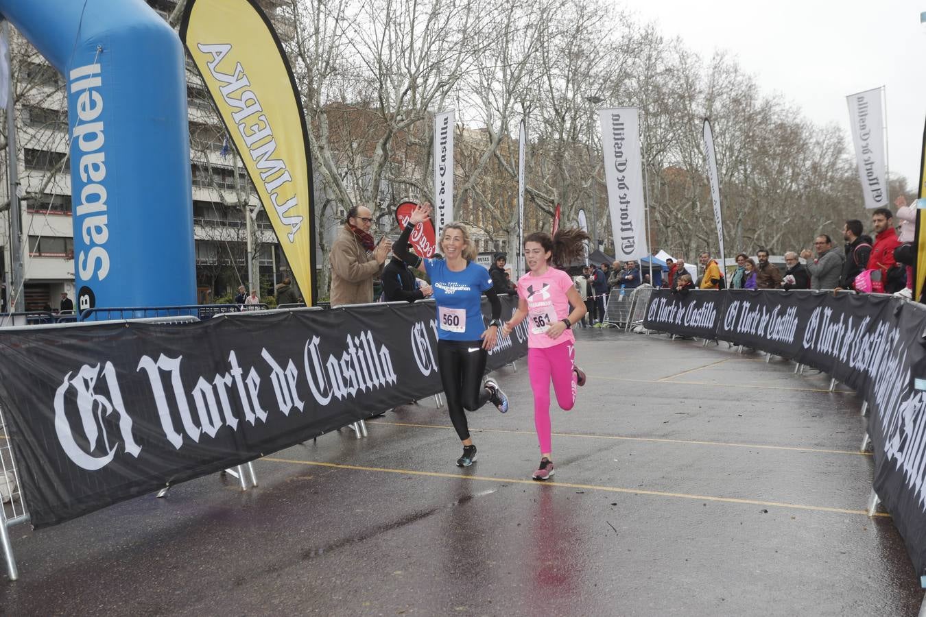
<svg viewBox="0 0 926 617">
<path fill-rule="evenodd" d="M 180 38 L 143 0 L 0 0 L 67 81 L 75 309 L 193 304 Z"/>
</svg>

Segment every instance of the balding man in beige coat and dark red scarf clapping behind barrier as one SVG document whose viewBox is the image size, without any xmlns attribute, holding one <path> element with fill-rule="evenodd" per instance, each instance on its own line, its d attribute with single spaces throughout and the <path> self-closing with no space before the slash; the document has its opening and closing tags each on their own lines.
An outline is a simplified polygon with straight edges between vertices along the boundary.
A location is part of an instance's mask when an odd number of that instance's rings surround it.
<svg viewBox="0 0 926 617">
<path fill-rule="evenodd" d="M 393 250 L 385 238 L 373 244 L 369 230 L 373 213 L 362 205 L 347 212 L 344 227 L 332 244 L 332 306 L 373 302 L 373 279 L 382 273 L 382 265 Z"/>
</svg>

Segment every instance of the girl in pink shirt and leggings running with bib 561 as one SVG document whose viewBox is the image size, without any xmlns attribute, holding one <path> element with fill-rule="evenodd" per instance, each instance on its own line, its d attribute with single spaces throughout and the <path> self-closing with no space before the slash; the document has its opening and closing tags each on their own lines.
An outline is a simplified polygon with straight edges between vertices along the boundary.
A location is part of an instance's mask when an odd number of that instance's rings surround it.
<svg viewBox="0 0 926 617">
<path fill-rule="evenodd" d="M 524 239 L 524 259 L 531 271 L 519 279 L 518 310 L 502 327 L 502 334 L 509 335 L 528 319 L 527 364 L 541 457 L 534 480 L 546 480 L 554 474 L 550 381 L 564 411 L 575 404 L 576 387 L 585 385 L 585 374 L 574 364 L 575 337 L 569 329 L 585 316 L 585 302 L 569 275 L 552 265 L 568 264 L 581 255 L 585 240 L 588 234 L 579 229 L 560 229 L 553 238 L 543 232 L 532 233 Z"/>
</svg>

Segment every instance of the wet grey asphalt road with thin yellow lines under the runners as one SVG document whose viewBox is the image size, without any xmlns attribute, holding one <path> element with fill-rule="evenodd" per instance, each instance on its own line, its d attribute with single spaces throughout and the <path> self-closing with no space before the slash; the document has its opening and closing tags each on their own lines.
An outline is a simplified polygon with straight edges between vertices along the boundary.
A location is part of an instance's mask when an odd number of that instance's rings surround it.
<svg viewBox="0 0 926 617">
<path fill-rule="evenodd" d="M 915 615 L 864 509 L 860 401 L 826 376 L 665 336 L 580 330 L 589 375 L 539 460 L 526 365 L 470 414 L 433 400 L 67 524 L 13 527 L 3 615 Z"/>
</svg>

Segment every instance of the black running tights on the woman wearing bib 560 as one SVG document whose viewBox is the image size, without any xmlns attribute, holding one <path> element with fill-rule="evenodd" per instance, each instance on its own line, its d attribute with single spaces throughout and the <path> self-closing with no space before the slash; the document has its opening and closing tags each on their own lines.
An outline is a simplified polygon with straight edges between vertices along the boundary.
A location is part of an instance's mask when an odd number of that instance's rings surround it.
<svg viewBox="0 0 926 617">
<path fill-rule="evenodd" d="M 474 350 L 474 351 L 471 351 Z M 441 368 L 444 397 L 450 410 L 450 422 L 460 441 L 469 439 L 464 409 L 475 412 L 489 400 L 489 390 L 482 387 L 489 352 L 482 340 L 438 340 L 437 364 Z"/>
</svg>

